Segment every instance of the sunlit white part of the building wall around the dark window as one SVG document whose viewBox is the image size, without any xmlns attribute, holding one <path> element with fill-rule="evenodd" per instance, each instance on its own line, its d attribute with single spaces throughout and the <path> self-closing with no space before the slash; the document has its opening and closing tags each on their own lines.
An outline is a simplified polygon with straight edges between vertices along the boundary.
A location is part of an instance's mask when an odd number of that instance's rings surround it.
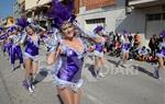
<svg viewBox="0 0 165 104">
<path fill-rule="evenodd" d="M 125 15 L 124 0 L 116 0 L 116 5 L 98 8 L 92 10 L 87 10 L 86 7 L 81 7 L 80 12 L 78 14 L 78 21 L 85 26 L 86 20 L 106 18 L 106 30 L 108 32 L 116 31 L 117 20 L 119 18 L 123 19 L 123 16 Z"/>
</svg>

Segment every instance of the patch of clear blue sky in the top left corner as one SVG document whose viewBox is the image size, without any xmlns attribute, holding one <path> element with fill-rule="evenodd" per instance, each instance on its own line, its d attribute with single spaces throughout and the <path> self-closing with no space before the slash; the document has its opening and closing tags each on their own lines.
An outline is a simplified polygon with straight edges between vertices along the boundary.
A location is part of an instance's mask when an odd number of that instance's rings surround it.
<svg viewBox="0 0 165 104">
<path fill-rule="evenodd" d="M 7 18 L 12 15 L 13 3 L 16 0 L 0 0 L 0 18 Z"/>
</svg>

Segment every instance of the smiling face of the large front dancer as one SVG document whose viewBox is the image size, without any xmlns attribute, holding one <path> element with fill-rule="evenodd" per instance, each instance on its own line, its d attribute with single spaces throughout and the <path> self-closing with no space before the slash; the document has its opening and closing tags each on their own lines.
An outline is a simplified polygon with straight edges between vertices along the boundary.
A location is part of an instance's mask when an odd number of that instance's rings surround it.
<svg viewBox="0 0 165 104">
<path fill-rule="evenodd" d="M 72 23 L 66 23 L 62 26 L 62 32 L 64 33 L 65 37 L 73 38 L 75 36 L 75 28 Z"/>
</svg>

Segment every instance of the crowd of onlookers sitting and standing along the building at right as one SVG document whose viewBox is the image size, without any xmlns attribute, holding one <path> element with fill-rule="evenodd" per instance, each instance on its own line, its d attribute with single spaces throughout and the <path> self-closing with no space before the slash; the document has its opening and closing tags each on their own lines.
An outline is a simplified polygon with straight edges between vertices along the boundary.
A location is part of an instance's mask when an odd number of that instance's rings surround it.
<svg viewBox="0 0 165 104">
<path fill-rule="evenodd" d="M 106 37 L 106 49 L 110 56 L 120 57 L 122 48 L 122 34 L 110 32 Z M 153 35 L 150 38 L 148 45 L 142 45 L 141 34 L 138 32 L 134 35 L 128 34 L 131 44 L 129 59 L 141 61 L 156 62 L 156 51 L 158 51 L 160 36 Z"/>
</svg>

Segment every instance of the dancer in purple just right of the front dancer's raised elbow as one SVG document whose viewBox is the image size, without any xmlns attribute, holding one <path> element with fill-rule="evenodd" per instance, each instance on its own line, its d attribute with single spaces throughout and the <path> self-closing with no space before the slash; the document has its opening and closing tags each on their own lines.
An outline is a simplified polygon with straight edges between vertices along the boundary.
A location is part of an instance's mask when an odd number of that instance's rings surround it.
<svg viewBox="0 0 165 104">
<path fill-rule="evenodd" d="M 98 78 L 103 78 L 106 77 L 106 74 L 103 74 L 101 72 L 101 70 L 105 70 L 105 65 L 106 65 L 106 59 L 103 57 L 103 51 L 105 51 L 105 38 L 102 37 L 102 35 L 106 35 L 106 32 L 103 30 L 102 26 L 97 26 L 95 30 L 94 30 L 94 33 L 99 35 L 100 38 L 102 38 L 102 42 L 101 43 L 97 43 L 95 45 L 95 76 Z"/>
</svg>

